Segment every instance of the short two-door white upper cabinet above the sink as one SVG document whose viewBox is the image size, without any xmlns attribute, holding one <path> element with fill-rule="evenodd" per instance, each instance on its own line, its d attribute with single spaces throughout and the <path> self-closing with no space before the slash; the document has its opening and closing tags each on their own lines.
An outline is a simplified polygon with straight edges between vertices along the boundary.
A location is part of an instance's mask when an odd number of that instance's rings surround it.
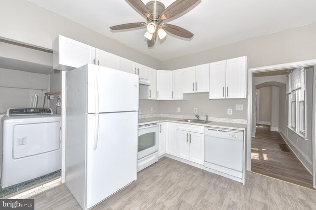
<svg viewBox="0 0 316 210">
<path fill-rule="evenodd" d="M 209 91 L 209 63 L 183 69 L 183 93 Z"/>
</svg>

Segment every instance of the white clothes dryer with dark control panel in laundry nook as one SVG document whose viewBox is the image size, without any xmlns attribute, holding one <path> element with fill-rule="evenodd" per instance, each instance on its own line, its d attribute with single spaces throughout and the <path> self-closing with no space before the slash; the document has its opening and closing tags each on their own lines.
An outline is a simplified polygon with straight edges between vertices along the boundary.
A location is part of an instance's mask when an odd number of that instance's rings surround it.
<svg viewBox="0 0 316 210">
<path fill-rule="evenodd" d="M 61 116 L 49 108 L 8 109 L 1 118 L 2 188 L 61 169 Z"/>
</svg>

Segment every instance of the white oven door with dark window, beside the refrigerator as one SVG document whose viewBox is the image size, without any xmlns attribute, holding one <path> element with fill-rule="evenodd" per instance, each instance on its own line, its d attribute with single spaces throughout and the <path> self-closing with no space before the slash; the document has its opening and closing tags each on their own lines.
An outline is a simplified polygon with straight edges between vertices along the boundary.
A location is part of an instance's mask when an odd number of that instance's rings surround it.
<svg viewBox="0 0 316 210">
<path fill-rule="evenodd" d="M 158 151 L 158 124 L 138 128 L 138 159 Z"/>
</svg>

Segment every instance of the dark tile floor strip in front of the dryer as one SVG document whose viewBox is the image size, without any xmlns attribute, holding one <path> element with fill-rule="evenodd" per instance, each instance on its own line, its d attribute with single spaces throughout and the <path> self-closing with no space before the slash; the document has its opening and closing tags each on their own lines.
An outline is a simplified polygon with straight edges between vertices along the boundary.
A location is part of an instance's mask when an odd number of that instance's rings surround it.
<svg viewBox="0 0 316 210">
<path fill-rule="evenodd" d="M 46 174 L 44 176 L 35 178 L 33 180 L 24 181 L 22 183 L 14 184 L 12 186 L 8 186 L 5 188 L 0 187 L 0 198 L 8 196 L 12 193 L 16 193 L 18 191 L 24 190 L 28 187 L 31 187 L 35 184 L 39 184 L 40 182 L 48 181 L 54 178 L 60 177 L 60 170 Z M 1 183 L 0 183 L 1 185 Z"/>
</svg>

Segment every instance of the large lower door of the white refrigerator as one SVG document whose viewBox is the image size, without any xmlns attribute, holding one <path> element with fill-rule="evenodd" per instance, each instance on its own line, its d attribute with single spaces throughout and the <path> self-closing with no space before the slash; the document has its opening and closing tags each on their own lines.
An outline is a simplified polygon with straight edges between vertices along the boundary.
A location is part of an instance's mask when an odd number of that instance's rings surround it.
<svg viewBox="0 0 316 210">
<path fill-rule="evenodd" d="M 99 114 L 99 129 L 95 116 L 87 114 L 87 209 L 137 179 L 138 112 Z"/>
</svg>

